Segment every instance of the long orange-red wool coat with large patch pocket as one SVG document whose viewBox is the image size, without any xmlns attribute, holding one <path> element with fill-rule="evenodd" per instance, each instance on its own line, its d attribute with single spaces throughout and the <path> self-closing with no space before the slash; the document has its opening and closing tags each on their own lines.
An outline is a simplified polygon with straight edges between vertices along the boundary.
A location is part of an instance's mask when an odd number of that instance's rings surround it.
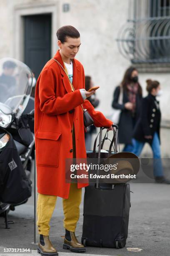
<svg viewBox="0 0 170 256">
<path fill-rule="evenodd" d="M 60 52 L 54 56 L 64 67 Z M 68 198 L 70 184 L 65 182 L 65 159 L 72 158 L 72 124 L 75 127 L 76 158 L 86 158 L 83 112 L 81 104 L 94 120 L 96 127 L 110 127 L 112 122 L 95 111 L 80 90 L 85 88 L 82 64 L 73 60 L 71 91 L 67 75 L 56 61 L 45 64 L 35 90 L 35 150 L 37 191 L 40 194 Z M 70 111 L 72 110 L 72 111 Z M 69 112 L 70 111 L 70 112 Z M 88 184 L 77 184 L 78 188 Z"/>
</svg>

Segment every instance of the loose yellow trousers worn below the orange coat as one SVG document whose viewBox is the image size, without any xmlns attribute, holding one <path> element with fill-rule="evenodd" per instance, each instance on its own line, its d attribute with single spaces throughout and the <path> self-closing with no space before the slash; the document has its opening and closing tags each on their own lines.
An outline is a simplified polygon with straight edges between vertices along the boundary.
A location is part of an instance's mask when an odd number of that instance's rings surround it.
<svg viewBox="0 0 170 256">
<path fill-rule="evenodd" d="M 80 203 L 82 189 L 77 188 L 76 183 L 70 184 L 68 199 L 62 198 L 64 212 L 64 228 L 74 232 L 80 216 Z M 44 236 L 49 235 L 50 220 L 55 209 L 57 196 L 38 194 L 37 199 L 37 226 L 38 233 Z"/>
</svg>

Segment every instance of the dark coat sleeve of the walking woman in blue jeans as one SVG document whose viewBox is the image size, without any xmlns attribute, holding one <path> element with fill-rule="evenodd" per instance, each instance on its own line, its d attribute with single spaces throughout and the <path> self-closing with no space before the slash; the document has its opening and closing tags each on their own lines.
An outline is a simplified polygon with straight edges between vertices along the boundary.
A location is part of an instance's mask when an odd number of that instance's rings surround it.
<svg viewBox="0 0 170 256">
<path fill-rule="evenodd" d="M 148 109 L 149 109 L 149 102 L 147 99 L 142 99 L 141 104 L 141 120 L 142 120 L 142 127 L 143 133 L 145 136 L 151 135 L 149 123 L 148 123 Z"/>
</svg>

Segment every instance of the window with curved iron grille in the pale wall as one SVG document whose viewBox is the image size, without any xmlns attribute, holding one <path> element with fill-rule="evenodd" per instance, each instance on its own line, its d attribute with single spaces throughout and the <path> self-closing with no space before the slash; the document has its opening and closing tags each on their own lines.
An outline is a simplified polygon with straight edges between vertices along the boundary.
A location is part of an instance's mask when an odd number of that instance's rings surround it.
<svg viewBox="0 0 170 256">
<path fill-rule="evenodd" d="M 117 43 L 133 64 L 170 64 L 170 0 L 129 0 Z"/>
</svg>

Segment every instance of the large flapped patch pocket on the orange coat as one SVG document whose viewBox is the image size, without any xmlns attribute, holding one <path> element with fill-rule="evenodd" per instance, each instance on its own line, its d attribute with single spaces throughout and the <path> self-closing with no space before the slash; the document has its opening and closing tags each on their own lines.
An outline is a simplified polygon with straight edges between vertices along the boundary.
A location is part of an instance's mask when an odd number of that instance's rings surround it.
<svg viewBox="0 0 170 256">
<path fill-rule="evenodd" d="M 37 131 L 36 163 L 41 166 L 58 166 L 62 133 Z"/>
</svg>

